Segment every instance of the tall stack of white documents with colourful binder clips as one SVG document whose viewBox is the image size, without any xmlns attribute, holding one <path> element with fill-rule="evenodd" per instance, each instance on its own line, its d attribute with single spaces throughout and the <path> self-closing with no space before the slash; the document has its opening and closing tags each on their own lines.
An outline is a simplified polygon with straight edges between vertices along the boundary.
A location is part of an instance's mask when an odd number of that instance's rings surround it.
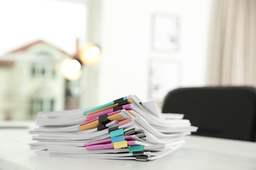
<svg viewBox="0 0 256 170">
<path fill-rule="evenodd" d="M 40 156 L 155 160 L 179 148 L 197 127 L 161 114 L 136 95 L 90 109 L 39 112 L 30 148 Z"/>
</svg>

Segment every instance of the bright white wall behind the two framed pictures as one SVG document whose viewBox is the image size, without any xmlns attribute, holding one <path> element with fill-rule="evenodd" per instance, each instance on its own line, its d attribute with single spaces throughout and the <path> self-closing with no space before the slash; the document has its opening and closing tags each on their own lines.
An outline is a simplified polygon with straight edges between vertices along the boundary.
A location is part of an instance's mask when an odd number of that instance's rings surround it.
<svg viewBox="0 0 256 170">
<path fill-rule="evenodd" d="M 181 86 L 205 85 L 211 1 L 101 1 L 101 36 L 98 41 L 102 47 L 102 61 L 99 65 L 98 103 L 95 105 L 129 94 L 148 100 L 148 63 L 152 58 L 180 60 Z M 179 16 L 181 44 L 178 52 L 157 53 L 150 48 L 153 14 Z"/>
</svg>

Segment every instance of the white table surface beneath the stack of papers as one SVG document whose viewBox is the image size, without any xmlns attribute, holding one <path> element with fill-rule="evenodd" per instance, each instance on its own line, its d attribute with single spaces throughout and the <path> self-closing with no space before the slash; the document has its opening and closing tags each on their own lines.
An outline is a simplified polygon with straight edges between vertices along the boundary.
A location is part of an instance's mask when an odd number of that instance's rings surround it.
<svg viewBox="0 0 256 170">
<path fill-rule="evenodd" d="M 181 148 L 154 161 L 36 156 L 28 129 L 0 129 L 2 169 L 256 169 L 256 143 L 191 136 Z"/>
</svg>

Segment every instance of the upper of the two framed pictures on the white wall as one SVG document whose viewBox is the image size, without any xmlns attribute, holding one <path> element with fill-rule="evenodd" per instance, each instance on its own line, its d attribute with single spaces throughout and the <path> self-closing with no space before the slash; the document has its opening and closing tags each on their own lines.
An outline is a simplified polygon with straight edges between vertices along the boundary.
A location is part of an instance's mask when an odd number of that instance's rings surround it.
<svg viewBox="0 0 256 170">
<path fill-rule="evenodd" d="M 179 48 L 179 19 L 169 14 L 152 16 L 152 48 L 158 51 L 177 51 Z"/>
</svg>

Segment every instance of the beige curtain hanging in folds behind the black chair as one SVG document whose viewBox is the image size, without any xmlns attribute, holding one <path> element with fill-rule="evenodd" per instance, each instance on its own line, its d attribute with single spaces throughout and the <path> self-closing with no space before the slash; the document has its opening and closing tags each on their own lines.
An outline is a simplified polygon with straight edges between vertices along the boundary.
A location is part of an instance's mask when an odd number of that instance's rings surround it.
<svg viewBox="0 0 256 170">
<path fill-rule="evenodd" d="M 256 0 L 216 0 L 214 9 L 209 83 L 256 86 Z"/>
</svg>

